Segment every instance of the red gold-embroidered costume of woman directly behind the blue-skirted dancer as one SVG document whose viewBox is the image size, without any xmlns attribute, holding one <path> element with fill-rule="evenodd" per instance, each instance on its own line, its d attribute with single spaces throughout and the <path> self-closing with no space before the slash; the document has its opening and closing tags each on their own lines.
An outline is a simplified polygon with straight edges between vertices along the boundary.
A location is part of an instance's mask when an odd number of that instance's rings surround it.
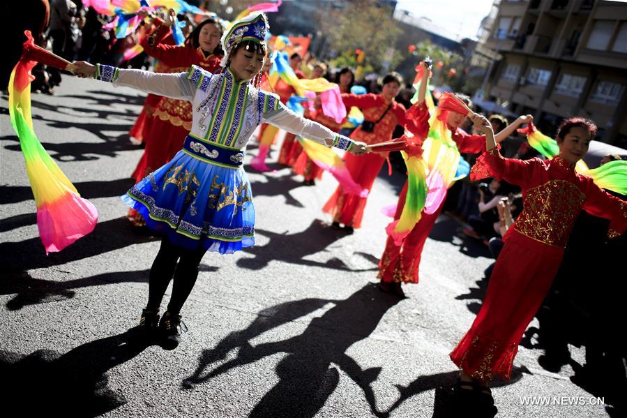
<svg viewBox="0 0 627 418">
<path fill-rule="evenodd" d="M 148 36 L 139 42 L 146 54 L 158 59 L 168 66 L 168 73 L 183 73 L 190 66 L 196 65 L 212 73 L 220 68 L 221 55 L 205 56 L 200 48 L 191 45 L 167 45 L 164 38 L 170 33 L 170 28 L 161 24 Z M 186 100 L 160 98 L 156 105 L 153 119 L 146 129 L 146 149 L 139 165 L 135 170 L 135 180 L 139 182 L 146 175 L 161 167 L 174 157 L 183 147 L 188 132 L 192 128 L 192 105 Z"/>
</svg>

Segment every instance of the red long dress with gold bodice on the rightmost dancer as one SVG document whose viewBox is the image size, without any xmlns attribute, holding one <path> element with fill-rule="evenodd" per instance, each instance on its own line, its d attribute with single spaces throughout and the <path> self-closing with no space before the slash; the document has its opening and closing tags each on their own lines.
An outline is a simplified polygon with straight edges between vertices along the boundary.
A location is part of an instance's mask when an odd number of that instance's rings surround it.
<svg viewBox="0 0 627 418">
<path fill-rule="evenodd" d="M 520 186 L 523 210 L 504 236 L 481 311 L 451 352 L 458 367 L 483 383 L 494 375 L 510 378 L 518 343 L 550 289 L 581 209 L 610 219 L 610 237 L 627 228 L 627 202 L 575 173 L 559 156 L 520 161 L 503 158 L 495 148 L 471 170 L 472 179 L 489 176 Z"/>
</svg>

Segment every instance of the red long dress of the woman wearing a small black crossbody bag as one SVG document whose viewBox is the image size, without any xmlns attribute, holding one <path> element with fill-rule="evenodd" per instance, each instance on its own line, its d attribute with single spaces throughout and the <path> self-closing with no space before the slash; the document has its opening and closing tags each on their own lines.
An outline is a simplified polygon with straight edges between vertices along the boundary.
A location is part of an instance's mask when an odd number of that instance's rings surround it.
<svg viewBox="0 0 627 418">
<path fill-rule="evenodd" d="M 351 134 L 352 140 L 365 142 L 367 145 L 386 142 L 392 139 L 396 125 L 405 125 L 405 106 L 394 100 L 386 102 L 380 94 L 342 94 L 342 101 L 347 110 L 353 106 L 360 108 L 364 120 L 372 122 L 378 121 L 391 105 L 383 119 L 375 124 L 373 132 L 364 132 L 359 126 Z M 363 156 L 347 153 L 345 155 L 346 168 L 361 188 L 370 190 L 386 161 L 386 156 L 387 153 L 370 153 Z M 367 201 L 368 197 L 344 193 L 342 186 L 338 186 L 322 210 L 333 216 L 333 222 L 358 228 L 361 226 L 363 209 Z"/>
</svg>

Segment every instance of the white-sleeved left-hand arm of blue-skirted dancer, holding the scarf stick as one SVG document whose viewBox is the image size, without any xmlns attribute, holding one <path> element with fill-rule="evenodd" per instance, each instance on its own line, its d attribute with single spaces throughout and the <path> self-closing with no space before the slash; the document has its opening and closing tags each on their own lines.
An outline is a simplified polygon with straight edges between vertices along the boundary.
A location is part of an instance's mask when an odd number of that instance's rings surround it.
<svg viewBox="0 0 627 418">
<path fill-rule="evenodd" d="M 81 78 L 93 77 L 112 82 L 114 86 L 128 86 L 148 93 L 181 100 L 193 100 L 195 86 L 186 73 L 151 73 L 144 70 L 127 70 L 86 61 L 74 63 L 74 73 Z"/>
</svg>

